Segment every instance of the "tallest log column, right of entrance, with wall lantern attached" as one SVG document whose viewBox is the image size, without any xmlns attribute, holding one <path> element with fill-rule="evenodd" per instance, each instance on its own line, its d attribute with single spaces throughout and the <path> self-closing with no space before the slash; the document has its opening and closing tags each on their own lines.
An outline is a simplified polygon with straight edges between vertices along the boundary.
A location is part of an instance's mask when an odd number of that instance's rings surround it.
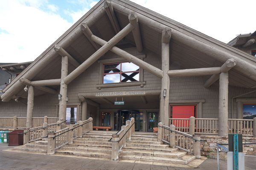
<svg viewBox="0 0 256 170">
<path fill-rule="evenodd" d="M 164 125 L 168 125 L 169 121 L 169 90 L 170 90 L 170 78 L 169 71 L 169 42 L 171 38 L 171 29 L 166 28 L 162 32 L 162 86 L 160 94 L 160 121 Z M 164 96 L 165 95 L 165 96 Z"/>
</svg>

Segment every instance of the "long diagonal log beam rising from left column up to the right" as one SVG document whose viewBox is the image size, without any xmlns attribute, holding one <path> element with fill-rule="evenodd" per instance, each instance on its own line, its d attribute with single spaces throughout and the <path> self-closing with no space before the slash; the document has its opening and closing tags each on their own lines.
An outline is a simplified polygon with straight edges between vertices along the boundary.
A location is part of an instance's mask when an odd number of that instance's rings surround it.
<svg viewBox="0 0 256 170">
<path fill-rule="evenodd" d="M 88 67 L 90 67 L 95 61 L 97 61 L 102 55 L 104 55 L 114 45 L 116 45 L 116 43 L 118 43 L 126 35 L 128 35 L 129 32 L 131 32 L 131 30 L 133 30 L 133 29 L 134 29 L 134 26 L 131 25 L 130 23 L 127 26 L 125 26 L 125 28 L 122 29 L 119 33 L 117 33 L 113 38 L 111 38 L 111 40 L 109 40 L 108 43 L 106 43 L 99 50 L 97 50 L 95 53 L 93 53 L 93 55 L 91 55 L 89 58 L 87 58 L 87 60 L 84 61 L 84 63 L 82 63 L 79 67 L 77 67 L 75 70 L 73 70 L 73 72 L 71 72 L 69 75 L 67 75 L 64 83 L 69 84 L 71 81 L 73 81 L 77 76 L 79 76 Z"/>
</svg>

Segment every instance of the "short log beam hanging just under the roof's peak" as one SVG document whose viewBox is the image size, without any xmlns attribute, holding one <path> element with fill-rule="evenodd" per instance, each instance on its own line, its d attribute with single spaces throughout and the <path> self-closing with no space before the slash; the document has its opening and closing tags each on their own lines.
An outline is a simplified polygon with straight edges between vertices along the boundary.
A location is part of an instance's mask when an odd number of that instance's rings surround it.
<svg viewBox="0 0 256 170">
<path fill-rule="evenodd" d="M 121 29 L 120 29 L 118 20 L 116 18 L 116 14 L 114 12 L 113 6 L 111 5 L 111 2 L 109 0 L 105 1 L 104 8 L 111 22 L 111 25 L 113 26 L 113 29 L 117 34 Z"/>
</svg>

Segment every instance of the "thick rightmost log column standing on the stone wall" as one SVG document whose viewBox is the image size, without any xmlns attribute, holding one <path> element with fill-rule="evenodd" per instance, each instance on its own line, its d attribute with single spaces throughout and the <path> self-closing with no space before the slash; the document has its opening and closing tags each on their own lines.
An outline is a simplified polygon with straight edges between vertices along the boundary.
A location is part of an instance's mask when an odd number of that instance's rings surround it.
<svg viewBox="0 0 256 170">
<path fill-rule="evenodd" d="M 227 136 L 228 133 L 228 72 L 220 74 L 219 107 L 218 107 L 218 135 Z"/>
</svg>

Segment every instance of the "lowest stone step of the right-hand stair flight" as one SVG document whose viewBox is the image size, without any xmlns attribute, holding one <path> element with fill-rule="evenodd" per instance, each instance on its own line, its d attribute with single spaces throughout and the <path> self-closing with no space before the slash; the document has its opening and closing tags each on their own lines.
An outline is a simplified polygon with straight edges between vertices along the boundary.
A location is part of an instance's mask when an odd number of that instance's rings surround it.
<svg viewBox="0 0 256 170">
<path fill-rule="evenodd" d="M 167 157 L 159 157 L 159 156 L 140 156 L 140 155 L 126 155 L 122 154 L 119 156 L 120 159 L 131 159 L 131 160 L 139 160 L 139 161 L 153 161 L 153 162 L 168 162 L 168 163 L 177 163 L 177 164 L 187 164 L 193 159 L 195 156 L 187 156 L 185 158 L 167 158 Z"/>
</svg>

